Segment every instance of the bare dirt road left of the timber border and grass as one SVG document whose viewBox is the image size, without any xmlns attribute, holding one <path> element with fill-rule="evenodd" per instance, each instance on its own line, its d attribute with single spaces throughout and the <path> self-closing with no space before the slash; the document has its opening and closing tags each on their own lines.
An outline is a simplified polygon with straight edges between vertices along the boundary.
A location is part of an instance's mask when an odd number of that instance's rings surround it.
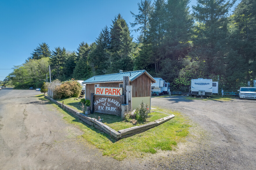
<svg viewBox="0 0 256 170">
<path fill-rule="evenodd" d="M 0 92 L 0 169 L 129 169 L 91 145 L 77 141 L 82 132 L 39 101 L 35 90 Z"/>
</svg>

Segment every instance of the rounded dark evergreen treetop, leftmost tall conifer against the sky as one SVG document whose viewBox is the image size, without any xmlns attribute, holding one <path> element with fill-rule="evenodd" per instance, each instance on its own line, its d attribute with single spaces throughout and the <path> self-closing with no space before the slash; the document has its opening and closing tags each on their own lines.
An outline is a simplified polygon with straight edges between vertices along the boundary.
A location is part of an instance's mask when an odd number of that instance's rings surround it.
<svg viewBox="0 0 256 170">
<path fill-rule="evenodd" d="M 51 50 L 48 44 L 42 43 L 37 46 L 36 49 L 31 53 L 31 58 L 38 60 L 43 57 L 51 57 Z"/>
</svg>

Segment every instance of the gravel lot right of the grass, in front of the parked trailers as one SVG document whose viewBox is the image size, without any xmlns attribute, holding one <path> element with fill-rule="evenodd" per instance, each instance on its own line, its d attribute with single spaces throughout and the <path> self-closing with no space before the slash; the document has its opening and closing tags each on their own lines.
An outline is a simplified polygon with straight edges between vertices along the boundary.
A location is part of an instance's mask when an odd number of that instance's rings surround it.
<svg viewBox="0 0 256 170">
<path fill-rule="evenodd" d="M 201 101 L 154 97 L 153 106 L 187 115 L 200 132 L 176 158 L 163 157 L 155 166 L 177 169 L 256 169 L 256 100 Z M 196 133 L 195 135 L 198 135 Z"/>
</svg>

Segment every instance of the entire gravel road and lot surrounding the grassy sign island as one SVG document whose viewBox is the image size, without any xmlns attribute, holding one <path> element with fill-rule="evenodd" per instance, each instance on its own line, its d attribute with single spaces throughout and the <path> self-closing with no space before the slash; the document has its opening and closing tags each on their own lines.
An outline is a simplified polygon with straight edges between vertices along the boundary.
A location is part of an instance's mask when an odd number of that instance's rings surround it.
<svg viewBox="0 0 256 170">
<path fill-rule="evenodd" d="M 191 120 L 187 142 L 174 151 L 117 161 L 80 143 L 76 136 L 82 132 L 37 94 L 0 91 L 0 169 L 256 169 L 256 100 L 154 97 L 152 107 L 179 111 Z"/>
</svg>

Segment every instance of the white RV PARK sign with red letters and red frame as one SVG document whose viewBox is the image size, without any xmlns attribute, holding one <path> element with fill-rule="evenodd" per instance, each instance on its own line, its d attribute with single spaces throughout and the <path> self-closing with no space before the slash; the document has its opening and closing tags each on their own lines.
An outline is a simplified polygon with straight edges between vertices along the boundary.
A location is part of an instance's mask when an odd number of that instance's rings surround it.
<svg viewBox="0 0 256 170">
<path fill-rule="evenodd" d="M 95 87 L 95 95 L 120 96 L 123 95 L 123 88 L 119 87 Z"/>
</svg>

